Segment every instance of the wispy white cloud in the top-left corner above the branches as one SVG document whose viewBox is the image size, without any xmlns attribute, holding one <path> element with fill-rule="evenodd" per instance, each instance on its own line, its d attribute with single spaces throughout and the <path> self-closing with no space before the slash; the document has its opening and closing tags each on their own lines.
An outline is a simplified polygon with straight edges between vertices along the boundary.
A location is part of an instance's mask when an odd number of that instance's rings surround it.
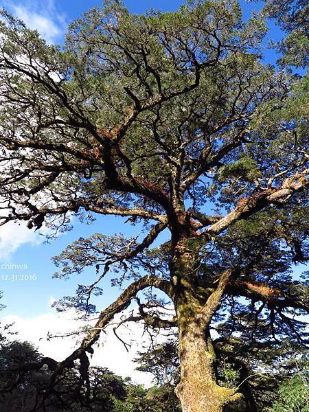
<svg viewBox="0 0 309 412">
<path fill-rule="evenodd" d="M 30 29 L 38 30 L 47 43 L 60 43 L 67 28 L 65 15 L 56 9 L 53 0 L 0 0 L 14 16 L 21 19 Z"/>
</svg>

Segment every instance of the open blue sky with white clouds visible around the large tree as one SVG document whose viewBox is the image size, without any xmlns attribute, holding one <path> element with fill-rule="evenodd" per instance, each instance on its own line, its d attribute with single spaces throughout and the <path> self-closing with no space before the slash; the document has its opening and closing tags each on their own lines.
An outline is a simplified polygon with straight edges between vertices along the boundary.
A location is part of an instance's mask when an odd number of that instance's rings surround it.
<svg viewBox="0 0 309 412">
<path fill-rule="evenodd" d="M 176 10 L 181 3 L 183 3 L 181 0 L 125 1 L 131 12 L 145 12 L 150 8 L 172 11 Z M 0 0 L 0 6 L 4 6 L 12 14 L 23 19 L 28 26 L 41 32 L 49 43 L 59 44 L 64 40 L 68 23 L 83 12 L 87 12 L 89 8 L 98 5 L 102 5 L 99 0 Z M 241 1 L 241 5 L 244 19 L 248 19 L 253 10 L 260 8 L 260 3 L 249 4 Z M 270 29 L 265 44 L 270 38 L 277 41 L 281 36 L 281 32 L 273 23 L 270 23 Z M 273 50 L 266 50 L 265 60 L 267 62 L 274 64 L 276 58 Z M 83 225 L 75 219 L 73 220 L 73 230 L 51 243 L 44 243 L 44 237 L 40 233 L 34 233 L 27 229 L 24 223 L 21 223 L 21 226 L 10 224 L 0 227 L 0 290 L 3 290 L 3 299 L 0 303 L 7 306 L 1 312 L 1 316 L 5 317 L 4 321 L 16 322 L 15 330 L 19 331 L 20 339 L 29 339 L 47 356 L 54 356 L 54 358 L 58 356 L 60 359 L 69 354 L 71 347 L 73 347 L 72 343 L 62 344 L 62 341 L 50 343 L 41 339 L 49 331 L 65 332 L 71 325 L 68 326 L 67 320 L 57 317 L 50 304 L 53 299 L 59 299 L 64 295 L 73 295 L 78 283 L 89 284 L 91 277 L 95 275 L 95 269 L 93 268 L 87 274 L 74 276 L 67 281 L 52 279 L 56 267 L 50 258 L 58 255 L 68 244 L 80 236 L 87 237 L 95 232 L 106 235 L 122 232 L 126 236 L 136 236 L 136 231 L 139 229 L 124 225 L 124 220 L 107 216 L 99 217 L 94 225 Z M 16 265 L 22 266 L 16 268 Z M 298 270 L 304 269 L 303 266 L 299 267 Z M 108 276 L 104 279 L 102 287 L 104 295 L 98 299 L 99 308 L 104 308 L 111 303 L 119 292 L 117 288 L 110 287 L 110 277 Z M 137 329 L 135 332 L 138 332 Z M 137 338 L 138 343 L 140 340 L 140 337 Z M 117 374 L 127 374 L 140 382 L 149 383 L 149 378 L 147 380 L 144 374 L 139 376 L 139 373 L 133 371 L 134 365 L 130 363 L 130 359 L 135 357 L 135 352 L 133 351 L 127 358 L 123 347 L 118 347 L 118 352 L 116 352 L 117 345 L 119 345 L 119 341 L 115 340 L 106 343 L 108 350 L 103 351 L 105 355 L 99 354 L 94 363 L 110 367 Z M 140 347 L 138 349 L 140 350 Z M 114 361 L 113 353 L 116 354 L 117 363 Z M 119 365 L 118 370 L 117 365 Z"/>
</svg>

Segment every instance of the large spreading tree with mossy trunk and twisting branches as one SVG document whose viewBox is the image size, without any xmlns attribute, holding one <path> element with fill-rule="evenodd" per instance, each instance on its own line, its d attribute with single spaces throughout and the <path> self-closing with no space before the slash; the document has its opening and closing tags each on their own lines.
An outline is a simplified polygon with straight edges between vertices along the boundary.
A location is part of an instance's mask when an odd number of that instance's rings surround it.
<svg viewBox="0 0 309 412">
<path fill-rule="evenodd" d="M 56 258 L 58 276 L 98 273 L 62 307 L 93 311 L 109 272 L 125 288 L 51 387 L 76 360 L 89 387 L 87 352 L 136 301 L 122 321 L 178 328 L 183 411 L 222 411 L 241 394 L 218 385 L 214 339 L 243 353 L 308 343 L 308 283 L 292 275 L 308 260 L 308 80 L 262 64 L 265 23 L 233 0 L 146 15 L 106 1 L 65 47 L 5 12 L 0 24 L 3 224 L 65 230 L 86 212 L 146 231 L 95 233 Z"/>
</svg>

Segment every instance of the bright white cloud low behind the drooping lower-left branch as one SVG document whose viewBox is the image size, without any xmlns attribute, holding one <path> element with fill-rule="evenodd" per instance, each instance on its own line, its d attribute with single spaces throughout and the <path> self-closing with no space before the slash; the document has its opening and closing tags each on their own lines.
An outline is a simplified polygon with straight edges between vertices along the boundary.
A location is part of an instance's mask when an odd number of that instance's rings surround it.
<svg viewBox="0 0 309 412">
<path fill-rule="evenodd" d="M 43 355 L 50 356 L 56 361 L 62 361 L 76 349 L 78 345 L 76 336 L 64 339 L 54 338 L 48 341 L 47 334 L 67 334 L 85 325 L 83 321 L 76 321 L 72 312 L 64 314 L 48 312 L 33 318 L 8 315 L 1 319 L 3 324 L 13 322 L 14 326 L 10 330 L 18 332 L 17 337 L 20 341 L 29 341 L 38 347 L 38 351 Z M 135 382 L 143 383 L 149 387 L 152 385 L 152 375 L 136 371 L 137 364 L 133 362 L 137 352 L 142 350 L 142 343 L 147 341 L 149 343 L 149 340 L 144 335 L 144 328 L 141 324 L 130 323 L 128 326 L 130 328 L 120 327 L 117 334 L 126 343 L 131 344 L 129 352 L 126 352 L 123 343 L 117 339 L 112 328 L 109 327 L 106 333 L 101 333 L 99 346 L 94 347 L 95 352 L 91 358 L 91 365 L 107 367 L 119 376 L 130 376 Z M 13 335 L 12 339 L 14 338 L 16 336 Z"/>
</svg>

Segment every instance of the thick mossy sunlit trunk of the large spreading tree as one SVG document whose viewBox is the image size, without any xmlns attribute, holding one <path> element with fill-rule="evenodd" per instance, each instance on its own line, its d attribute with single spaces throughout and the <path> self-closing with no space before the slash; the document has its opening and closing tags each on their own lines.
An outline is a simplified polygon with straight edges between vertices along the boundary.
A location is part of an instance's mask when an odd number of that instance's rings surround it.
<svg viewBox="0 0 309 412">
<path fill-rule="evenodd" d="M 192 241 L 192 240 L 191 240 Z M 222 407 L 240 398 L 233 389 L 220 387 L 214 374 L 215 354 L 209 335 L 211 317 L 218 308 L 225 283 L 214 290 L 199 289 L 195 278 L 196 245 L 178 244 L 172 264 L 174 304 L 179 326 L 181 380 L 176 387 L 183 412 L 222 412 Z M 222 286 L 220 293 L 218 289 Z"/>
</svg>

